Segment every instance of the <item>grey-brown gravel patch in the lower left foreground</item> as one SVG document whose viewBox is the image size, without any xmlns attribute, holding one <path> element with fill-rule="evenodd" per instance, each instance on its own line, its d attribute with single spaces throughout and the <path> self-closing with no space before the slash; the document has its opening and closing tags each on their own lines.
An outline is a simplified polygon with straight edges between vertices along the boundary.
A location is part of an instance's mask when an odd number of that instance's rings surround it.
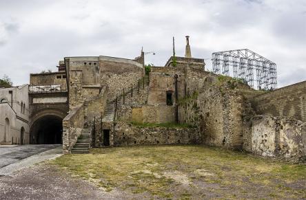
<svg viewBox="0 0 306 200">
<path fill-rule="evenodd" d="M 44 164 L 0 177 L 0 199 L 122 199 L 119 195 Z"/>
</svg>

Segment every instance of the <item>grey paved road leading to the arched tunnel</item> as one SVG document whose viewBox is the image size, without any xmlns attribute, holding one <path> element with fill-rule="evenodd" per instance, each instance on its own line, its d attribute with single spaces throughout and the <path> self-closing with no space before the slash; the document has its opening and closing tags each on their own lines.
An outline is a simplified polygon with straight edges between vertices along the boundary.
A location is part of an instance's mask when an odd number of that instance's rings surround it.
<svg viewBox="0 0 306 200">
<path fill-rule="evenodd" d="M 57 148 L 60 144 L 27 144 L 20 146 L 0 146 L 0 169 L 20 162 L 32 155 L 48 151 L 52 148 Z"/>
</svg>

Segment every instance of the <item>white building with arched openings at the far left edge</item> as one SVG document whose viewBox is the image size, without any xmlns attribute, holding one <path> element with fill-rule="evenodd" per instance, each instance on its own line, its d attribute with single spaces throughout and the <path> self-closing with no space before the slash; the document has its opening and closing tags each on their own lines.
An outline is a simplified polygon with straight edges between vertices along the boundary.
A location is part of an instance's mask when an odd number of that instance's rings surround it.
<svg viewBox="0 0 306 200">
<path fill-rule="evenodd" d="M 28 85 L 0 88 L 0 144 L 29 144 Z"/>
</svg>

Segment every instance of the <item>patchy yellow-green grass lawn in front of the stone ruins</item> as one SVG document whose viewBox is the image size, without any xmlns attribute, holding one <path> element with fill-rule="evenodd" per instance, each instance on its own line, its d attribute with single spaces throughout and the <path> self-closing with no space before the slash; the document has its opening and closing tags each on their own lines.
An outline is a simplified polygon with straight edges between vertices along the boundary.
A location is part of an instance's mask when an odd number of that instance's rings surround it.
<svg viewBox="0 0 306 200">
<path fill-rule="evenodd" d="M 163 199 L 303 199 L 305 164 L 207 146 L 94 148 L 50 164 L 109 192 Z M 145 196 L 147 197 L 147 196 Z"/>
</svg>

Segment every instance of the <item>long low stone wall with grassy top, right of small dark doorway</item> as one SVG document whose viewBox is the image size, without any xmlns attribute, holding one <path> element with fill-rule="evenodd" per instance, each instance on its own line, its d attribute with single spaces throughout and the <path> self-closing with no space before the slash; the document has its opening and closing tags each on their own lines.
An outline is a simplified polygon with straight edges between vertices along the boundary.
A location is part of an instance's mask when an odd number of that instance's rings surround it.
<svg viewBox="0 0 306 200">
<path fill-rule="evenodd" d="M 195 128 L 141 127 L 126 122 L 116 124 L 113 138 L 114 146 L 201 142 L 200 134 Z"/>
</svg>

